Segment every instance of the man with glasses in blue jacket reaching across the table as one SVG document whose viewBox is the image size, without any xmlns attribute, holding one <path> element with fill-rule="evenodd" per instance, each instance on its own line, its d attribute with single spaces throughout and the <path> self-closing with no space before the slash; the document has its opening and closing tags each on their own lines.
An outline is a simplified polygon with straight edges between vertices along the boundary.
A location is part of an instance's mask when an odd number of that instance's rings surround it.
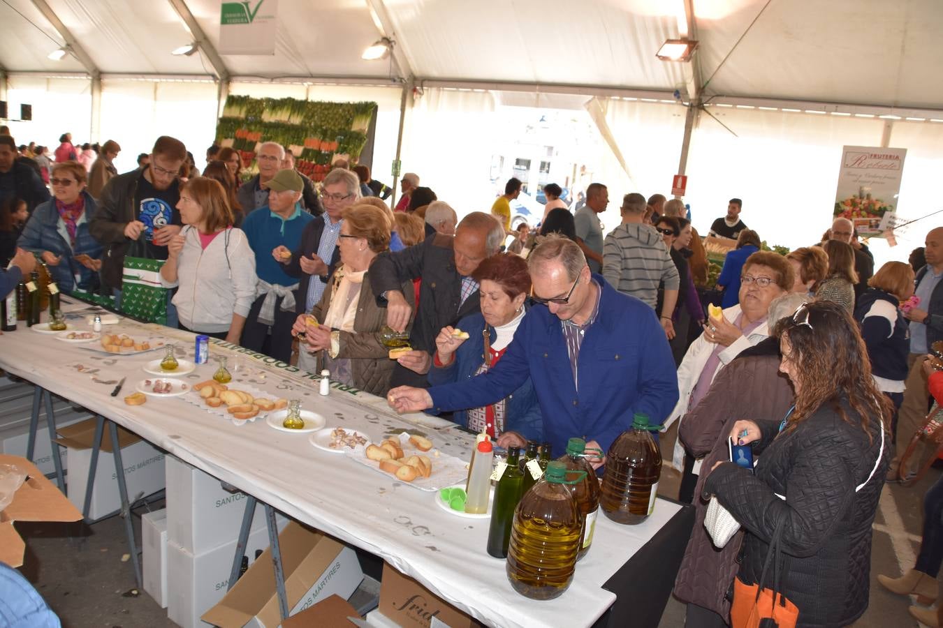
<svg viewBox="0 0 943 628">
<path fill-rule="evenodd" d="M 389 405 L 400 412 L 480 408 L 530 377 L 554 451 L 566 451 L 578 436 L 587 451 L 605 452 L 636 412 L 661 424 L 678 400 L 678 378 L 652 308 L 590 273 L 583 251 L 567 238 L 548 237 L 528 266 L 538 306 L 524 316 L 501 362 L 454 384 L 394 388 Z"/>
</svg>

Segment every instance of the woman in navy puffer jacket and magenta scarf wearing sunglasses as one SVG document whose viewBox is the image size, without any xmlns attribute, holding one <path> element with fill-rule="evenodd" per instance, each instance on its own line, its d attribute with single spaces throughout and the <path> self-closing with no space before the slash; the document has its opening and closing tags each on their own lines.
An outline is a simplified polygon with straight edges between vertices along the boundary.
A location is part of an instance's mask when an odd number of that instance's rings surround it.
<svg viewBox="0 0 943 628">
<path fill-rule="evenodd" d="M 86 174 L 77 161 L 54 165 L 54 198 L 36 207 L 17 242 L 36 253 L 62 292 L 99 286 L 102 245 L 89 233 L 97 203 L 85 190 Z"/>
</svg>

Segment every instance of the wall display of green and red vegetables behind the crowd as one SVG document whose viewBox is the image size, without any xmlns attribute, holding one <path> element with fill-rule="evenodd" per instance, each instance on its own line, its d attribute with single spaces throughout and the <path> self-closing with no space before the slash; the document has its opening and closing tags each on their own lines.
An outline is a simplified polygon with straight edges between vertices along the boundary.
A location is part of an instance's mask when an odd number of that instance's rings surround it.
<svg viewBox="0 0 943 628">
<path fill-rule="evenodd" d="M 239 151 L 243 168 L 251 172 L 258 144 L 278 142 L 294 154 L 299 172 L 321 181 L 334 161 L 356 161 L 376 106 L 230 95 L 216 125 L 216 143 Z"/>
</svg>

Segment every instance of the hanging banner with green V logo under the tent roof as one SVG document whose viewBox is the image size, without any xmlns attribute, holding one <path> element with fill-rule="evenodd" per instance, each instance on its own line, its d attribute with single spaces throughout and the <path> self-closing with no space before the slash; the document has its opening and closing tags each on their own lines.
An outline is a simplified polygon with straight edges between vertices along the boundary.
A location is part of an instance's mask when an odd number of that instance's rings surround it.
<svg viewBox="0 0 943 628">
<path fill-rule="evenodd" d="M 223 1 L 221 55 L 274 55 L 278 0 Z"/>
</svg>

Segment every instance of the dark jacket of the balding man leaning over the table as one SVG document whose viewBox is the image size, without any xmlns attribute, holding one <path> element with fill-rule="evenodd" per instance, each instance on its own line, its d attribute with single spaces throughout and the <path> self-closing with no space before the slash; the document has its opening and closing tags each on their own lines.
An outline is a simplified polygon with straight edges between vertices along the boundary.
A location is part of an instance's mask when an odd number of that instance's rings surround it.
<svg viewBox="0 0 943 628">
<path fill-rule="evenodd" d="M 380 253 L 370 267 L 370 282 L 377 304 L 386 307 L 382 297 L 388 290 L 402 290 L 403 282 L 421 279 L 416 320 L 409 332 L 409 343 L 414 349 L 432 354 L 436 350 L 436 336 L 446 325 L 455 325 L 458 319 L 480 312 L 478 291 L 461 302 L 462 280 L 455 269 L 453 236 L 434 233 L 420 244 L 395 253 Z M 401 376 L 404 374 L 400 374 Z M 394 382 L 405 379 L 393 375 Z M 425 376 L 419 376 L 413 385 L 428 386 Z"/>
</svg>

